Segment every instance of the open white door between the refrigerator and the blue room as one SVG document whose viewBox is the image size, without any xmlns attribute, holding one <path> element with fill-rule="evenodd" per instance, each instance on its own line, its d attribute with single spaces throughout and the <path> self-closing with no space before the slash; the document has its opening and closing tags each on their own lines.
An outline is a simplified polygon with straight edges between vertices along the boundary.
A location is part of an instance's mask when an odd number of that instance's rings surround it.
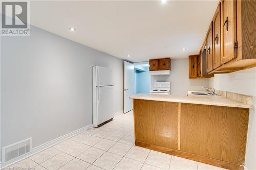
<svg viewBox="0 0 256 170">
<path fill-rule="evenodd" d="M 123 89 L 123 112 L 133 110 L 133 100 L 129 98 L 134 94 L 134 65 L 124 61 L 124 89 Z"/>
</svg>

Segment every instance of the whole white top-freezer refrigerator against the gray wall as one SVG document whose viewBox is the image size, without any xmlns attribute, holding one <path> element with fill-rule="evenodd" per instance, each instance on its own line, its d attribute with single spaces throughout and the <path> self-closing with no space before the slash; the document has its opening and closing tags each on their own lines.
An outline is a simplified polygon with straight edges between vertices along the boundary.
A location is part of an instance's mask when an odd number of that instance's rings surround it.
<svg viewBox="0 0 256 170">
<path fill-rule="evenodd" d="M 93 127 L 114 117 L 113 87 L 112 69 L 93 66 Z"/>
</svg>

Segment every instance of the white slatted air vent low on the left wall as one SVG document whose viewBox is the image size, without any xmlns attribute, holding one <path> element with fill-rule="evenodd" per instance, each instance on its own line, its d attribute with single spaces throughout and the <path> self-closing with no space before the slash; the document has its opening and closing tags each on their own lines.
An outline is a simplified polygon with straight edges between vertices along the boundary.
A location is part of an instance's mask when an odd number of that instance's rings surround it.
<svg viewBox="0 0 256 170">
<path fill-rule="evenodd" d="M 3 163 L 8 162 L 14 158 L 22 156 L 32 150 L 32 138 L 19 141 L 17 143 L 8 145 L 3 148 L 2 160 Z"/>
</svg>

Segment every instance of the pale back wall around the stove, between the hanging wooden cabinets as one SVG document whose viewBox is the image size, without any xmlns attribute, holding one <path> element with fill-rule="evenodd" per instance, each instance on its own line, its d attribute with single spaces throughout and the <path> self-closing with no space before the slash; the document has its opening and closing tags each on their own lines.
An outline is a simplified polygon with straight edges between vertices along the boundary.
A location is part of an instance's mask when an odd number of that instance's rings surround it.
<svg viewBox="0 0 256 170">
<path fill-rule="evenodd" d="M 188 58 L 171 59 L 170 75 L 152 76 L 153 82 L 169 81 L 170 93 L 186 95 L 187 90 L 204 90 L 202 86 L 209 86 L 209 79 L 188 79 Z"/>
</svg>

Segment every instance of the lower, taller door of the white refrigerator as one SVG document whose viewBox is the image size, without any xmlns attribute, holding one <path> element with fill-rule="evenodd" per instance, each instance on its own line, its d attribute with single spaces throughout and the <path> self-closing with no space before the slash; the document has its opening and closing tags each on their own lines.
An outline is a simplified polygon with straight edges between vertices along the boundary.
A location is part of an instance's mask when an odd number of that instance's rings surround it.
<svg viewBox="0 0 256 170">
<path fill-rule="evenodd" d="M 114 117 L 113 86 L 97 87 L 98 125 Z"/>
</svg>

